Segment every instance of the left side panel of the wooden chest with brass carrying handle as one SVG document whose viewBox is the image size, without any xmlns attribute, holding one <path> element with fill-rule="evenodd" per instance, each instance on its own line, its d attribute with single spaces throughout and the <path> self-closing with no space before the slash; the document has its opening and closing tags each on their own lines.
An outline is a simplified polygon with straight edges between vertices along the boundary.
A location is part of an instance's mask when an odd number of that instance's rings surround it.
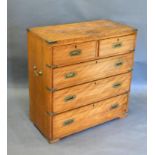
<svg viewBox="0 0 155 155">
<path fill-rule="evenodd" d="M 51 59 L 47 49 L 43 40 L 28 32 L 30 119 L 45 137 L 51 139 L 51 117 L 47 114 L 51 108 L 51 94 L 45 89 L 46 85 L 51 85 L 46 79 L 51 73 L 45 70 L 45 63 Z"/>
</svg>

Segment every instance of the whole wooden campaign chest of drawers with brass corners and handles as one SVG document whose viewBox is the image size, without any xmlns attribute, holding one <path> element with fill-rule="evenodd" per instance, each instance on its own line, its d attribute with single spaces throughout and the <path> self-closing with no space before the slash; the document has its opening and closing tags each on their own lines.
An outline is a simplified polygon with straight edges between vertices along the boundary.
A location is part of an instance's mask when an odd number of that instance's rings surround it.
<svg viewBox="0 0 155 155">
<path fill-rule="evenodd" d="M 136 34 L 110 20 L 28 29 L 30 119 L 49 142 L 127 115 Z"/>
</svg>

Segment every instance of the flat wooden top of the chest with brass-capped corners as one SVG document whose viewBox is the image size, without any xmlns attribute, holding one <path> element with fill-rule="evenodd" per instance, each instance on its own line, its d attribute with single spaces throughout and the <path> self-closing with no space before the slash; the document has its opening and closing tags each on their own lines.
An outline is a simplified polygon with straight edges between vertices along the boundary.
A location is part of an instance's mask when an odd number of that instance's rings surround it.
<svg viewBox="0 0 155 155">
<path fill-rule="evenodd" d="M 96 20 L 63 25 L 51 25 L 28 29 L 48 43 L 74 43 L 115 36 L 128 35 L 135 28 L 110 20 Z"/>
</svg>

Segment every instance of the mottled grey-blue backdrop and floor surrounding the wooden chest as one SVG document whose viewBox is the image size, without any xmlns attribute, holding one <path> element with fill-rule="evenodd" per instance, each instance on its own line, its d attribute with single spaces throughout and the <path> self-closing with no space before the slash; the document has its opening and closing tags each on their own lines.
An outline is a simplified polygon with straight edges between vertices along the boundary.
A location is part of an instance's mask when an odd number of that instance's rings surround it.
<svg viewBox="0 0 155 155">
<path fill-rule="evenodd" d="M 8 0 L 8 154 L 146 155 L 146 0 Z M 111 19 L 138 28 L 129 116 L 49 145 L 28 118 L 26 28 Z"/>
</svg>

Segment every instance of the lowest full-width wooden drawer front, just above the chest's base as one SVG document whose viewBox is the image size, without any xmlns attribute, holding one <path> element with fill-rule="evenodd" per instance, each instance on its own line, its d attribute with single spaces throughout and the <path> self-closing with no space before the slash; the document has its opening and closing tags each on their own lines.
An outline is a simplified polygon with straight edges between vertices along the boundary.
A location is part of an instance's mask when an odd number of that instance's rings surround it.
<svg viewBox="0 0 155 155">
<path fill-rule="evenodd" d="M 121 117 L 127 112 L 127 107 L 127 95 L 121 95 L 55 115 L 53 117 L 54 139 Z"/>
</svg>

